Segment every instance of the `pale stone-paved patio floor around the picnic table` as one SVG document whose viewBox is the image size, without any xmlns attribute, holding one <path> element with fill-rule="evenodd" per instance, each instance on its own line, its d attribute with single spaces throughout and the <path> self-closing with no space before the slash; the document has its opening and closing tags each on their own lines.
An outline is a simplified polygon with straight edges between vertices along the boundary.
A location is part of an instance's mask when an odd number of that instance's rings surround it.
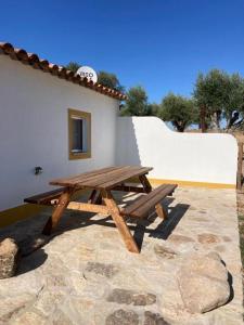
<svg viewBox="0 0 244 325">
<path fill-rule="evenodd" d="M 17 276 L 0 281 L 0 324 L 243 324 L 235 192 L 178 188 L 164 204 L 167 221 L 129 220 L 140 255 L 126 250 L 111 218 L 91 213 L 66 212 L 49 242 L 40 236 L 48 210 L 2 230 L 25 257 Z M 218 252 L 231 274 L 230 301 L 204 314 L 185 310 L 176 276 L 194 251 Z"/>
</svg>

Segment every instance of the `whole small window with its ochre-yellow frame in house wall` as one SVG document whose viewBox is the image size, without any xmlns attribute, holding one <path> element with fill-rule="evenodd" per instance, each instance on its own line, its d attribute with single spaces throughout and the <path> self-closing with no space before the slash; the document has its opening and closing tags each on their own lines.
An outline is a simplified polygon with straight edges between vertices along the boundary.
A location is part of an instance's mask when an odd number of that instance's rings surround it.
<svg viewBox="0 0 244 325">
<path fill-rule="evenodd" d="M 91 114 L 68 109 L 69 159 L 91 157 Z"/>
</svg>

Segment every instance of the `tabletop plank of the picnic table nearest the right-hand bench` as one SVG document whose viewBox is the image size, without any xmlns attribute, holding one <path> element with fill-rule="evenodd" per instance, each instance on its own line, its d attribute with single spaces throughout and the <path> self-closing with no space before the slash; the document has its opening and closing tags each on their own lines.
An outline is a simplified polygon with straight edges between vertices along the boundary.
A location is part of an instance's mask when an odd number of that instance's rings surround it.
<svg viewBox="0 0 244 325">
<path fill-rule="evenodd" d="M 150 168 L 150 167 L 141 167 L 141 168 L 134 167 L 134 168 L 131 168 L 130 170 L 121 173 L 121 176 L 117 176 L 116 179 L 112 179 L 107 182 L 98 184 L 95 187 L 99 190 L 112 190 L 113 187 L 127 181 L 128 179 L 147 173 L 150 170 L 152 170 L 152 168 Z"/>
</svg>

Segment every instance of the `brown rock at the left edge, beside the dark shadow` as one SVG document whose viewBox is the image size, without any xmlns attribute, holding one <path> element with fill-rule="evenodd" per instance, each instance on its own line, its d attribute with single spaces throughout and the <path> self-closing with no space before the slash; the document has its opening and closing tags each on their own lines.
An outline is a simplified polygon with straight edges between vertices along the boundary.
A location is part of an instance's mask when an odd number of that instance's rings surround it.
<svg viewBox="0 0 244 325">
<path fill-rule="evenodd" d="M 11 277 L 15 274 L 18 260 L 18 247 L 11 238 L 0 243 L 0 278 Z"/>
</svg>

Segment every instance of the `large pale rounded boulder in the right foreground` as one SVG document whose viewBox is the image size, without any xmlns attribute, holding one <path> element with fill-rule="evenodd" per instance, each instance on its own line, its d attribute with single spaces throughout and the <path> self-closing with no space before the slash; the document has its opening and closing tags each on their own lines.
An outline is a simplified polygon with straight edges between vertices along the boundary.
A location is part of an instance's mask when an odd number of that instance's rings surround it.
<svg viewBox="0 0 244 325">
<path fill-rule="evenodd" d="M 177 275 L 184 307 L 204 313 L 224 304 L 230 297 L 228 271 L 217 252 L 192 253 Z"/>
</svg>

